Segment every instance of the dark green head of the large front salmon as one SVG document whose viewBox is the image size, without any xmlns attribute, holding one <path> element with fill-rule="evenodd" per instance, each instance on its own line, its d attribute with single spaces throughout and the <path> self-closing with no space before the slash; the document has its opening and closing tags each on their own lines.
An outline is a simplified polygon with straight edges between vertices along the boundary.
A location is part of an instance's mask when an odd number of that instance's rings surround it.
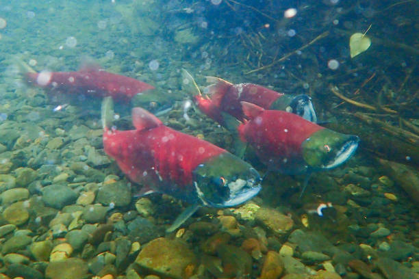
<svg viewBox="0 0 419 279">
<path fill-rule="evenodd" d="M 197 196 L 210 207 L 234 207 L 261 189 L 259 173 L 229 152 L 201 163 L 192 174 Z"/>
</svg>

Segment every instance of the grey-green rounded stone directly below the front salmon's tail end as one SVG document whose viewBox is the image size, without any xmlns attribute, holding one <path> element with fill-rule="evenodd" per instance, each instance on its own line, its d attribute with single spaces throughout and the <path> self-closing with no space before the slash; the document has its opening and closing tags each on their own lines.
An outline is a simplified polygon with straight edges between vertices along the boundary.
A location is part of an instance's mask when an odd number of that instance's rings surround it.
<svg viewBox="0 0 419 279">
<path fill-rule="evenodd" d="M 123 181 L 108 183 L 99 187 L 96 202 L 114 207 L 126 207 L 131 202 L 131 189 Z"/>
</svg>

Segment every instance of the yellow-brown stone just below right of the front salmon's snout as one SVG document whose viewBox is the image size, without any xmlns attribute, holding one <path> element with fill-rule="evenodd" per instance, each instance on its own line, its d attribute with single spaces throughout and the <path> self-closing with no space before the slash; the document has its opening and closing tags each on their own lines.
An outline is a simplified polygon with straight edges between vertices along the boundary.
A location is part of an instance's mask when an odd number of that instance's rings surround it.
<svg viewBox="0 0 419 279">
<path fill-rule="evenodd" d="M 275 209 L 268 209 L 264 207 L 261 207 L 256 212 L 255 220 L 268 230 L 271 230 L 277 236 L 288 233 L 294 226 L 294 222 L 291 217 L 283 215 Z"/>
</svg>

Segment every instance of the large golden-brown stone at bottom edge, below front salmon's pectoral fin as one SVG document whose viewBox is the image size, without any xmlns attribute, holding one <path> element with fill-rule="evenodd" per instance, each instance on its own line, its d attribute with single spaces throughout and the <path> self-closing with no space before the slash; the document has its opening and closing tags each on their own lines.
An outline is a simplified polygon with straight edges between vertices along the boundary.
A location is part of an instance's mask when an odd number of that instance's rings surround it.
<svg viewBox="0 0 419 279">
<path fill-rule="evenodd" d="M 179 239 L 171 240 L 164 237 L 144 245 L 135 262 L 152 274 L 173 279 L 187 278 L 186 269 L 193 270 L 196 266 L 195 255 L 186 243 Z"/>
</svg>

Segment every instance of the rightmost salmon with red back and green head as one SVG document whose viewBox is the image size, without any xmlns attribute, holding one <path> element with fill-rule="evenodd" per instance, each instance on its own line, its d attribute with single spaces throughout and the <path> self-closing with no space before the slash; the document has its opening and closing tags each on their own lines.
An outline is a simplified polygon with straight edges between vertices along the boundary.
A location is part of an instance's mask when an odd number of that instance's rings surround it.
<svg viewBox="0 0 419 279">
<path fill-rule="evenodd" d="M 250 120 L 238 127 L 239 135 L 270 170 L 299 174 L 308 168 L 335 168 L 357 148 L 354 135 L 336 133 L 286 111 L 242 105 Z"/>
</svg>

